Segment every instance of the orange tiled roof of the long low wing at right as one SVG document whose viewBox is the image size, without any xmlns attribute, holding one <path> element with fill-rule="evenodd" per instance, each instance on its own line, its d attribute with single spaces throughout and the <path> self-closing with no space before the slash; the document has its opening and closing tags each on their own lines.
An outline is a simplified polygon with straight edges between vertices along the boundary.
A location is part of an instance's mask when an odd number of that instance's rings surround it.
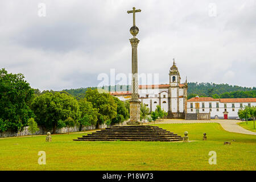
<svg viewBox="0 0 256 182">
<path fill-rule="evenodd" d="M 256 102 L 256 98 L 212 98 L 212 97 L 193 97 L 187 102 L 207 102 L 207 101 L 217 101 L 217 102 Z"/>
</svg>

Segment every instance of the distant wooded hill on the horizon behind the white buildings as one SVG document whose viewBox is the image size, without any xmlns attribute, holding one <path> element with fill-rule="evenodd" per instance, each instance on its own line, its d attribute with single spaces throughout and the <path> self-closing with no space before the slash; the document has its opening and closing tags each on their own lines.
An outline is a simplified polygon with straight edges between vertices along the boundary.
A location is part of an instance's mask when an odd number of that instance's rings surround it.
<svg viewBox="0 0 256 182">
<path fill-rule="evenodd" d="M 130 90 L 127 85 L 107 86 L 109 91 L 121 91 L 123 88 Z M 87 87 L 79 89 L 65 89 L 72 96 L 82 97 L 87 89 L 96 89 L 97 87 Z M 229 84 L 214 84 L 214 83 L 197 83 L 188 82 L 188 99 L 191 97 L 213 97 L 213 98 L 249 98 L 256 97 L 256 87 L 248 88 Z"/>
</svg>

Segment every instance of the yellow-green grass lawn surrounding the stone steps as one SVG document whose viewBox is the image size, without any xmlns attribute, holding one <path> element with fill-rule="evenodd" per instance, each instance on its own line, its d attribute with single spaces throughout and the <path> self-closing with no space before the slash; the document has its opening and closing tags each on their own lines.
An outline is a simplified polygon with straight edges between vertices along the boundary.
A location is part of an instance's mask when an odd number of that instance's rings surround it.
<svg viewBox="0 0 256 182">
<path fill-rule="evenodd" d="M 229 133 L 218 123 L 156 126 L 182 136 L 188 131 L 195 142 L 72 140 L 82 134 L 52 135 L 51 143 L 46 136 L 0 139 L 0 170 L 255 170 L 255 135 Z M 46 165 L 38 164 L 39 151 L 46 151 Z M 216 165 L 208 163 L 209 151 L 217 152 Z"/>
</svg>

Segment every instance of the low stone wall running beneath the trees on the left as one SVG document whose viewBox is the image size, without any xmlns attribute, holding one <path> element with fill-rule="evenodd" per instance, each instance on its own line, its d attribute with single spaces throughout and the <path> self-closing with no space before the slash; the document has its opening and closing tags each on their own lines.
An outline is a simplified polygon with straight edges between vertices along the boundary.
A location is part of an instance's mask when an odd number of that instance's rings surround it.
<svg viewBox="0 0 256 182">
<path fill-rule="evenodd" d="M 115 125 L 118 125 L 118 126 L 126 125 L 126 122 L 127 121 L 125 121 L 123 123 L 117 123 Z M 46 135 L 48 131 L 52 133 L 52 129 L 46 130 L 41 126 L 38 126 L 38 127 L 39 127 L 39 131 L 36 131 L 36 133 L 33 135 Z M 105 124 L 100 125 L 100 129 L 104 129 L 106 127 L 108 127 L 108 126 Z M 88 131 L 88 130 L 95 130 L 95 129 L 96 129 L 96 126 L 92 125 L 92 126 L 88 126 L 88 127 L 82 127 L 81 131 Z M 68 131 L 68 128 L 63 127 L 61 129 L 56 129 L 55 134 L 67 133 L 67 131 Z M 69 133 L 72 133 L 72 132 L 79 132 L 79 126 L 70 127 Z M 23 130 L 20 131 L 19 133 L 15 133 L 13 131 L 5 131 L 5 133 L 0 132 L 0 137 L 20 137 L 20 136 L 26 136 L 26 135 L 31 135 L 31 133 L 28 131 L 28 126 L 24 127 Z"/>
</svg>

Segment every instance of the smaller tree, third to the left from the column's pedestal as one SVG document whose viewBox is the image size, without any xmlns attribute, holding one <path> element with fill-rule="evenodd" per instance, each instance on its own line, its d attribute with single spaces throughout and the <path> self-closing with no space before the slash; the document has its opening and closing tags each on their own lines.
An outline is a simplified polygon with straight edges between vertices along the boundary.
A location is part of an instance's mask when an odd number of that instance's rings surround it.
<svg viewBox="0 0 256 182">
<path fill-rule="evenodd" d="M 81 112 L 81 117 L 79 119 L 80 130 L 82 126 L 96 125 L 98 109 L 93 108 L 91 102 L 86 101 L 86 98 L 79 100 L 79 110 Z"/>
</svg>

